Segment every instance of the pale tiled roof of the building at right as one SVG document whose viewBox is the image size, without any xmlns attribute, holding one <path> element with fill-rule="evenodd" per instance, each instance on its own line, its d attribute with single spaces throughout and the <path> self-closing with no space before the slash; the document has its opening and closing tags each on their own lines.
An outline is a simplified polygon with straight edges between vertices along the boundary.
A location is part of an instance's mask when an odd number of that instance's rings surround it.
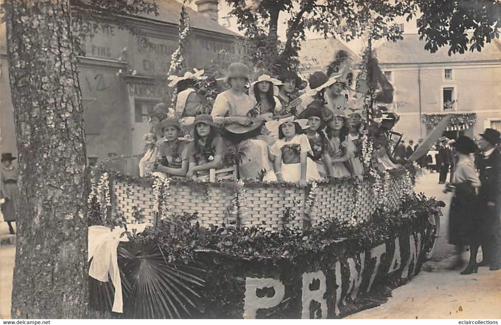
<svg viewBox="0 0 501 325">
<path fill-rule="evenodd" d="M 444 46 L 435 53 L 424 49 L 425 41 L 419 40 L 418 34 L 405 34 L 404 39 L 397 42 L 385 42 L 376 48 L 379 63 L 441 63 L 466 61 L 501 61 L 501 42 L 494 39 L 486 43 L 481 52 L 465 52 L 464 54 L 447 54 L 449 47 Z"/>
</svg>

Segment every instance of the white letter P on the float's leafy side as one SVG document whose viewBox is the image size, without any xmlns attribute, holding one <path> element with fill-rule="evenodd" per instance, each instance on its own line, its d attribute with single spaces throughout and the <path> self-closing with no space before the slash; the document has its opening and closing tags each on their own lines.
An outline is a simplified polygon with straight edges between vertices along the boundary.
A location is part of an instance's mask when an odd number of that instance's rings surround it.
<svg viewBox="0 0 501 325">
<path fill-rule="evenodd" d="M 324 276 L 325 283 L 325 276 Z M 324 284 L 325 286 L 325 284 Z M 258 289 L 273 288 L 273 297 L 258 297 Z M 324 289 L 325 292 L 325 289 Z M 254 319 L 258 309 L 277 306 L 284 299 L 285 287 L 280 280 L 269 277 L 246 277 L 245 297 L 243 301 L 243 318 Z"/>
</svg>

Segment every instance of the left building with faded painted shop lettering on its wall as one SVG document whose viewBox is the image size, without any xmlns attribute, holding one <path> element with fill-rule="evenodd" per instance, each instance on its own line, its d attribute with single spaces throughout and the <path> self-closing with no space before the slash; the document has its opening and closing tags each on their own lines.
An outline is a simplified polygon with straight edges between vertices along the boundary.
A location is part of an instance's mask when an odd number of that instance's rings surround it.
<svg viewBox="0 0 501 325">
<path fill-rule="evenodd" d="M 237 56 L 238 35 L 217 23 L 217 1 L 198 3 L 200 12 L 189 10 L 186 61 L 189 67 L 203 69 L 221 50 Z M 162 100 L 171 54 L 178 47 L 181 4 L 175 0 L 157 0 L 157 4 L 158 16 L 123 18 L 139 28 L 149 43 L 119 29 L 107 17 L 84 23 L 92 35 L 82 40 L 85 55 L 79 57 L 78 66 L 88 155 L 104 159 L 110 152 L 131 155 L 143 150 L 142 136 L 150 126 L 142 114 Z M 16 154 L 5 24 L 0 27 L 0 66 L 1 150 Z"/>
</svg>

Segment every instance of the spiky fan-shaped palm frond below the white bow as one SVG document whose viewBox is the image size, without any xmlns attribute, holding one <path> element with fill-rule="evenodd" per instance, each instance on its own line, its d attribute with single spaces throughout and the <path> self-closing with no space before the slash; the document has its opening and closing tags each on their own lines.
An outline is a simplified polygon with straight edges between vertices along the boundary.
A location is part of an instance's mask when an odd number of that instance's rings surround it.
<svg viewBox="0 0 501 325">
<path fill-rule="evenodd" d="M 155 242 L 136 243 L 131 256 L 120 265 L 130 283 L 124 299 L 124 315 L 130 318 L 183 318 L 197 309 L 195 288 L 204 280 L 192 273 L 201 269 L 167 262 Z"/>
</svg>

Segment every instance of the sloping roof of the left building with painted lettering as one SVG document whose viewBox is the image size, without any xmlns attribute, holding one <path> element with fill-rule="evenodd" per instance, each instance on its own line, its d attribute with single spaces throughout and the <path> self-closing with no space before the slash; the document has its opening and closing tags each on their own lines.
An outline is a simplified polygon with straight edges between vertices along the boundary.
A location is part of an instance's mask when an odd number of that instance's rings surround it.
<svg viewBox="0 0 501 325">
<path fill-rule="evenodd" d="M 141 17 L 146 17 L 152 20 L 179 24 L 179 13 L 181 11 L 181 3 L 178 3 L 176 0 L 156 0 L 158 5 L 158 16 L 155 14 L 142 14 Z M 216 21 L 211 20 L 208 17 L 188 8 L 189 13 L 189 25 L 193 28 L 230 35 L 230 36 L 239 36 L 238 34 L 222 27 Z"/>
</svg>

